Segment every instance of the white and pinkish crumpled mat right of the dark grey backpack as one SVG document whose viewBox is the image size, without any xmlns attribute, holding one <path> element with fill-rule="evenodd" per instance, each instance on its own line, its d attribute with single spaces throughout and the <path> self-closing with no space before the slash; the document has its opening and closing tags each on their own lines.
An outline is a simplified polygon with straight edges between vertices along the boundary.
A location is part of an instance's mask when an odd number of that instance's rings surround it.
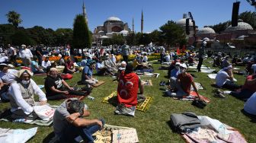
<svg viewBox="0 0 256 143">
<path fill-rule="evenodd" d="M 246 143 L 243 135 L 226 124 L 212 119 L 208 116 L 198 116 L 200 119 L 200 128 L 181 135 L 186 142 L 218 142 L 218 143 Z"/>
</svg>

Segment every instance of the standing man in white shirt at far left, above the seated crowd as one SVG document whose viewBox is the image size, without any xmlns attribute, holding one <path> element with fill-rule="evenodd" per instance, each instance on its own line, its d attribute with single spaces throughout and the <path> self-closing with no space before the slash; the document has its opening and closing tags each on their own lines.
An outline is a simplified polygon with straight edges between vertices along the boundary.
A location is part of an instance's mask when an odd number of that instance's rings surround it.
<svg viewBox="0 0 256 143">
<path fill-rule="evenodd" d="M 22 63 L 24 66 L 29 66 L 31 62 L 31 58 L 33 57 L 30 49 L 27 49 L 26 45 L 21 45 L 21 50 L 19 52 L 19 56 L 21 57 Z"/>
</svg>

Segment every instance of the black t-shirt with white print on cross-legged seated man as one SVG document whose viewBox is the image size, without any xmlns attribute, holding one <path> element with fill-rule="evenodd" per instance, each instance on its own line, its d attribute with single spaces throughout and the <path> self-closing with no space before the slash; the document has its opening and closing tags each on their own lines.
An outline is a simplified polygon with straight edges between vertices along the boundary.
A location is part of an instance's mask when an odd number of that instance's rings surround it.
<svg viewBox="0 0 256 143">
<path fill-rule="evenodd" d="M 58 75 L 56 78 L 52 76 L 47 76 L 46 81 L 44 81 L 44 88 L 46 90 L 46 96 L 52 96 L 56 94 L 50 89 L 50 87 L 55 87 L 59 91 L 62 91 L 62 78 Z"/>
</svg>

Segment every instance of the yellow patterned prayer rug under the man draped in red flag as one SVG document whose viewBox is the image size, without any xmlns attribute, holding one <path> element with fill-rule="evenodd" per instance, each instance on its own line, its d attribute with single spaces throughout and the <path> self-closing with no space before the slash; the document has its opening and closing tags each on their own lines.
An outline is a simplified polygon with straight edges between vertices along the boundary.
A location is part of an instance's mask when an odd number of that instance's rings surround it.
<svg viewBox="0 0 256 143">
<path fill-rule="evenodd" d="M 112 94 L 110 94 L 107 97 L 104 97 L 102 100 L 103 103 L 114 103 L 117 104 L 117 91 L 114 91 Z M 146 112 L 146 110 L 149 109 L 149 105 L 152 102 L 152 97 L 146 97 L 146 100 L 144 100 L 142 103 L 138 103 L 136 106 L 136 110 L 140 110 L 143 112 Z"/>
</svg>

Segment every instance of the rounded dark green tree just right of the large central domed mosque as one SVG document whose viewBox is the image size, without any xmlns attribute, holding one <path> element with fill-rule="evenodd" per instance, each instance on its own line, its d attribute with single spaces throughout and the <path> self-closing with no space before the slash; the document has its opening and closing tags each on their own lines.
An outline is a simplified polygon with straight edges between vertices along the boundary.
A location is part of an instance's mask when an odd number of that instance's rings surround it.
<svg viewBox="0 0 256 143">
<path fill-rule="evenodd" d="M 186 39 L 184 30 L 174 21 L 168 21 L 159 29 L 161 30 L 160 38 L 167 46 L 174 46 L 176 43 L 181 43 Z"/>
</svg>

